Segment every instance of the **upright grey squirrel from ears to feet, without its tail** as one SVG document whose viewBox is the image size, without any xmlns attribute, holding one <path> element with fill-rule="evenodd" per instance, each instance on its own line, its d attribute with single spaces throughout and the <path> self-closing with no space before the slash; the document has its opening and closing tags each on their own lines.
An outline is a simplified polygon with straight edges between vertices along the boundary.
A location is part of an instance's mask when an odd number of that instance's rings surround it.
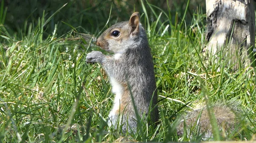
<svg viewBox="0 0 256 143">
<path fill-rule="evenodd" d="M 96 45 L 113 52 L 113 56 L 106 56 L 100 51 L 92 51 L 86 56 L 87 63 L 101 64 L 115 94 L 108 125 L 116 129 L 119 123 L 123 132 L 137 132 L 134 106 L 140 118 L 145 114 L 150 116 L 151 123 L 156 123 L 159 117 L 154 65 L 140 13 L 134 12 L 129 21 L 112 25 L 99 36 Z"/>
</svg>

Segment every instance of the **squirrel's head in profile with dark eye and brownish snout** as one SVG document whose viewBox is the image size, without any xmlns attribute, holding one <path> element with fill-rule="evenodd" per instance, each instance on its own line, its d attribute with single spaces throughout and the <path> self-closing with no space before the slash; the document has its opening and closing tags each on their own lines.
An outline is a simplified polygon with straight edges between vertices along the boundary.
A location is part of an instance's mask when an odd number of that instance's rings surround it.
<svg viewBox="0 0 256 143">
<path fill-rule="evenodd" d="M 116 23 L 104 31 L 96 44 L 114 53 L 124 53 L 126 49 L 140 45 L 140 37 L 145 36 L 145 31 L 140 24 L 140 13 L 134 12 L 129 21 Z"/>
</svg>

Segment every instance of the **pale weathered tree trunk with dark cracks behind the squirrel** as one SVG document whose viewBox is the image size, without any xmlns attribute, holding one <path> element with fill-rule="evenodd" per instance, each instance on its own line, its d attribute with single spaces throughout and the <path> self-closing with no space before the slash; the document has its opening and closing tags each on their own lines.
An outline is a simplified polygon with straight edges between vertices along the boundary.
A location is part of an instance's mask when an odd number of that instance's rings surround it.
<svg viewBox="0 0 256 143">
<path fill-rule="evenodd" d="M 206 0 L 207 50 L 217 57 L 221 52 L 233 70 L 255 66 L 253 5 L 253 0 Z"/>
</svg>

